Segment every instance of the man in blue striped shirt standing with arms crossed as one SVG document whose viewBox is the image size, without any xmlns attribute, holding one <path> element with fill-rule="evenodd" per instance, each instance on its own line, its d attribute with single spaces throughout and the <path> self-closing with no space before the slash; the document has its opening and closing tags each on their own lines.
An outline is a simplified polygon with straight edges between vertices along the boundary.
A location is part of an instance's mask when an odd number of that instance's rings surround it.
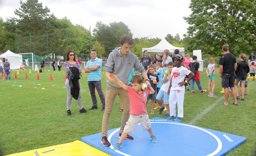
<svg viewBox="0 0 256 156">
<path fill-rule="evenodd" d="M 88 87 L 91 93 L 91 98 L 93 102 L 92 108 L 89 110 L 94 110 L 97 109 L 97 98 L 95 95 L 95 87 L 98 92 L 98 95 L 101 98 L 101 106 L 102 110 L 105 111 L 105 96 L 102 92 L 102 87 L 101 87 L 101 66 L 102 66 L 102 61 L 101 59 L 97 58 L 97 51 L 95 49 L 92 49 L 90 52 L 90 55 L 92 59 L 87 62 L 85 71 L 88 72 Z"/>
</svg>

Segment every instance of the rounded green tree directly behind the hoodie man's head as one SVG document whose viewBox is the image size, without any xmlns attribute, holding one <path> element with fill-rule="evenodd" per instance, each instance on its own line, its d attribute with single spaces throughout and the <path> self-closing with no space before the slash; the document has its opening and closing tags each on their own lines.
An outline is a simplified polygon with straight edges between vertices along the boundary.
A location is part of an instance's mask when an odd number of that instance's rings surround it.
<svg viewBox="0 0 256 156">
<path fill-rule="evenodd" d="M 131 30 L 123 22 L 112 22 L 103 24 L 101 21 L 97 21 L 96 27 L 93 30 L 95 39 L 104 45 L 105 55 L 109 55 L 112 50 L 120 46 L 120 39 L 122 36 L 129 35 L 132 37 Z"/>
</svg>

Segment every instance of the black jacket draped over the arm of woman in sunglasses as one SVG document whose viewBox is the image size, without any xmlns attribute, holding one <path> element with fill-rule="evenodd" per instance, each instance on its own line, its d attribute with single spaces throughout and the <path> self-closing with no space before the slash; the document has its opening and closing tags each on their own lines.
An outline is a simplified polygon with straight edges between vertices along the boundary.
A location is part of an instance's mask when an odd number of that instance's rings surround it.
<svg viewBox="0 0 256 156">
<path fill-rule="evenodd" d="M 69 73 L 69 87 L 70 87 L 70 93 L 73 98 L 76 100 L 78 99 L 79 96 L 79 91 L 80 91 L 80 75 L 79 75 L 79 70 L 77 67 L 69 67 L 71 69 Z"/>
</svg>

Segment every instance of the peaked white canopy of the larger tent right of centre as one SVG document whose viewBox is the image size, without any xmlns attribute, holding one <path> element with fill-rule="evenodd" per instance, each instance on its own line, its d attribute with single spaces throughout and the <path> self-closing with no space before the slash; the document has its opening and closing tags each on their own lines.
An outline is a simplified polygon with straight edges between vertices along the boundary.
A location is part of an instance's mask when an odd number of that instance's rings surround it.
<svg viewBox="0 0 256 156">
<path fill-rule="evenodd" d="M 142 52 L 144 50 L 147 50 L 147 52 L 155 52 L 155 53 L 158 53 L 159 55 L 162 55 L 163 51 L 166 49 L 168 49 L 170 53 L 174 53 L 174 50 L 178 49 L 180 50 L 181 55 L 185 57 L 185 48 L 175 47 L 171 45 L 169 42 L 167 42 L 166 39 L 162 39 L 157 45 L 151 48 L 142 48 Z"/>
</svg>

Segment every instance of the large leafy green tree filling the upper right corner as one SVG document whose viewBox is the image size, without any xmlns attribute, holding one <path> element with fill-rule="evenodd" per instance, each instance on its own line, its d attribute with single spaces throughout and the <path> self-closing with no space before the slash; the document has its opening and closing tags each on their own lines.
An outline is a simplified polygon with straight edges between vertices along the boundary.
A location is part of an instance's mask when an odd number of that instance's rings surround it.
<svg viewBox="0 0 256 156">
<path fill-rule="evenodd" d="M 190 24 L 185 48 L 215 56 L 223 54 L 224 44 L 235 55 L 255 51 L 255 4 L 254 0 L 191 0 L 192 14 L 184 17 Z"/>
</svg>

